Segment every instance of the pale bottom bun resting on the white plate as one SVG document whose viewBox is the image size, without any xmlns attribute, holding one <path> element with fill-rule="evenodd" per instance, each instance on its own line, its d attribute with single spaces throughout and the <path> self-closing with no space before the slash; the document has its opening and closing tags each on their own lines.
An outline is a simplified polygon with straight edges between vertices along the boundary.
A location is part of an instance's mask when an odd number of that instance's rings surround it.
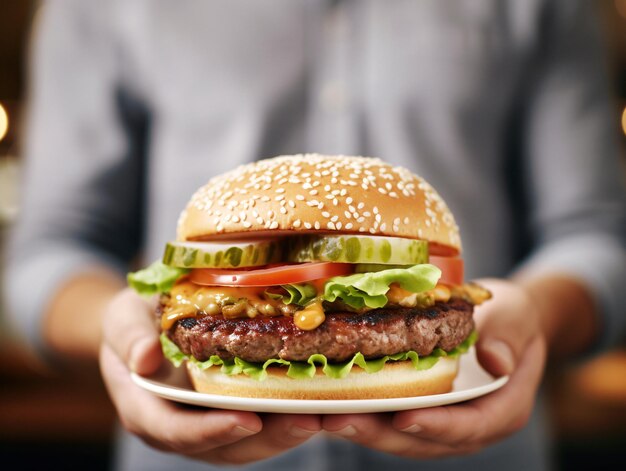
<svg viewBox="0 0 626 471">
<path fill-rule="evenodd" d="M 318 368 L 313 378 L 292 379 L 287 368 L 269 367 L 268 377 L 257 381 L 243 374 L 229 376 L 219 368 L 203 370 L 187 362 L 196 391 L 223 396 L 269 399 L 387 399 L 441 394 L 452 390 L 458 358 L 440 358 L 428 370 L 416 371 L 410 360 L 387 363 L 378 373 L 355 366 L 342 379 L 329 378 Z"/>
</svg>

